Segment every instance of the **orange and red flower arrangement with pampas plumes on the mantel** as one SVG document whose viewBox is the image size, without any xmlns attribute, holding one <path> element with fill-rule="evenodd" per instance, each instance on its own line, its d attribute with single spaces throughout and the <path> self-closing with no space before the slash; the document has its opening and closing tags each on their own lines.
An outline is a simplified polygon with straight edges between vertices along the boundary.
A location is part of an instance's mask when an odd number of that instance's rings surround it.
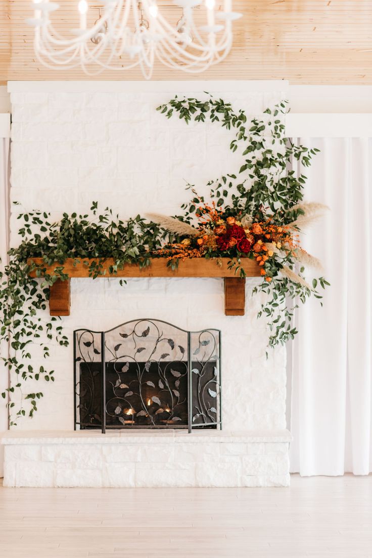
<svg viewBox="0 0 372 558">
<path fill-rule="evenodd" d="M 195 190 L 193 194 L 197 195 Z M 307 224 L 310 224 L 312 220 L 321 216 L 325 206 L 301 204 L 294 209 L 302 211 L 304 215 L 311 210 L 312 218 L 306 219 Z M 149 214 L 148 216 L 161 227 L 185 235 L 180 242 L 170 243 L 156 251 L 157 255 L 168 257 L 170 262 L 202 257 L 230 257 L 236 262 L 241 257 L 254 258 L 258 266 L 262 267 L 261 275 L 268 283 L 278 275 L 276 267 L 272 265 L 278 256 L 282 259 L 293 257 L 298 262 L 305 262 L 313 268 L 322 270 L 319 260 L 300 247 L 298 220 L 283 226 L 275 224 L 272 218 L 252 223 L 251 218 L 246 216 L 242 218 L 239 215 L 227 216 L 216 208 L 214 202 L 212 205 L 204 203 L 197 207 L 195 210 L 198 219 L 197 227 L 184 224 L 183 228 L 179 220 L 163 215 Z M 239 267 L 238 263 L 236 267 L 244 277 L 243 268 Z M 293 272 L 290 267 L 283 265 L 280 272 L 291 281 L 298 282 L 311 290 L 304 278 Z"/>
</svg>

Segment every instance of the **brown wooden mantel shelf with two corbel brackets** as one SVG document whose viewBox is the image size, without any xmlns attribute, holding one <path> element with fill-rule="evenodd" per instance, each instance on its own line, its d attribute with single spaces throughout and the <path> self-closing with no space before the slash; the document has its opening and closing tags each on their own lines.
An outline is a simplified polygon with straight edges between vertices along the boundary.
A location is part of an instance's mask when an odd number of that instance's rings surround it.
<svg viewBox="0 0 372 558">
<path fill-rule="evenodd" d="M 153 258 L 151 265 L 140 269 L 136 264 L 126 264 L 122 270 L 117 273 L 110 274 L 109 267 L 114 264 L 112 259 L 107 259 L 102 271 L 105 270 L 104 277 L 223 277 L 224 278 L 224 296 L 225 296 L 225 314 L 227 316 L 243 316 L 246 304 L 245 284 L 246 280 L 237 277 L 234 269 L 228 268 L 228 262 L 231 258 L 205 259 L 190 258 L 180 261 L 177 270 L 167 267 L 166 258 Z M 42 258 L 32 258 L 28 260 L 43 266 L 46 273 L 52 275 L 56 267 L 63 267 L 63 272 L 68 275 L 68 280 L 57 280 L 50 288 L 50 314 L 51 316 L 69 316 L 70 315 L 70 278 L 73 277 L 89 277 L 90 259 L 82 260 L 74 265 L 74 259 L 67 259 L 63 266 L 58 263 L 46 266 Z M 84 263 L 86 262 L 86 263 Z M 88 262 L 88 263 L 87 263 Z M 249 258 L 242 258 L 241 267 L 246 272 L 247 277 L 260 276 L 260 267 L 256 261 Z M 30 273 L 31 277 L 36 277 L 36 271 Z"/>
</svg>

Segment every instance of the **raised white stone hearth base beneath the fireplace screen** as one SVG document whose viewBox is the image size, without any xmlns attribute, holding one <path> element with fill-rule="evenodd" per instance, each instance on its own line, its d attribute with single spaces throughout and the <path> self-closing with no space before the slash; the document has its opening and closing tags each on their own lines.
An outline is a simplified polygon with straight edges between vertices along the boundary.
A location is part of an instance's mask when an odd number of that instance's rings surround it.
<svg viewBox="0 0 372 558">
<path fill-rule="evenodd" d="M 288 486 L 290 440 L 287 430 L 8 432 L 4 486 Z"/>
</svg>

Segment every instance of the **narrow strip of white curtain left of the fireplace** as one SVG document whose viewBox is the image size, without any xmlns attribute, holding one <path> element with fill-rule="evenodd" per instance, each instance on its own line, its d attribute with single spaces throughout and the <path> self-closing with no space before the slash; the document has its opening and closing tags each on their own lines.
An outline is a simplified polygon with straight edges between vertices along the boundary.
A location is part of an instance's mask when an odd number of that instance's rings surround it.
<svg viewBox="0 0 372 558">
<path fill-rule="evenodd" d="M 1 128 L 0 128 L 1 132 Z M 7 263 L 9 249 L 9 138 L 0 136 L 0 266 L 3 269 Z M 8 347 L 2 344 L 2 355 L 7 353 Z M 0 392 L 8 387 L 8 372 L 0 361 Z M 0 398 L 0 435 L 8 429 L 8 412 L 6 400 Z M 3 448 L 0 445 L 0 477 L 3 475 Z"/>
</svg>

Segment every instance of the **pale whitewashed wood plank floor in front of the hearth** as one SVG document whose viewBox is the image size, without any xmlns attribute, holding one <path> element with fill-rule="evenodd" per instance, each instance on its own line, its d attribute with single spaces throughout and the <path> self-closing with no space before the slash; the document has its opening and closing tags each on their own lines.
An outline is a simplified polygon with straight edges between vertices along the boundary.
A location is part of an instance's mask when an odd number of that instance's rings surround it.
<svg viewBox="0 0 372 558">
<path fill-rule="evenodd" d="M 372 476 L 286 488 L 2 488 L 1 558 L 371 558 Z"/>
</svg>

